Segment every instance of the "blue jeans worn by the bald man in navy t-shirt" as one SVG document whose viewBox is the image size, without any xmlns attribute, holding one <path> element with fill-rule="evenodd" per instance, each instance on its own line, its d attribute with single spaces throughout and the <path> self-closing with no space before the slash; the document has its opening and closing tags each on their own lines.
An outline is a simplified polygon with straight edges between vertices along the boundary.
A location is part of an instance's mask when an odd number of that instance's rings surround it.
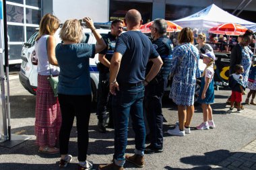
<svg viewBox="0 0 256 170">
<path fill-rule="evenodd" d="M 144 155 L 146 129 L 143 120 L 143 85 L 137 87 L 122 87 L 113 95 L 112 107 L 115 124 L 115 164 L 125 164 L 125 149 L 127 146 L 127 128 L 129 114 L 135 132 L 135 154 Z"/>
</svg>

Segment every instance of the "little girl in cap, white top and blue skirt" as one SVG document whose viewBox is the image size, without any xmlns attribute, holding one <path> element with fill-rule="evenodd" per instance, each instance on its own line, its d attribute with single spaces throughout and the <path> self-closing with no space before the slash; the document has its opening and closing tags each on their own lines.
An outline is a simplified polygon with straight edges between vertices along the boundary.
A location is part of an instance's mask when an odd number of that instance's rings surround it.
<svg viewBox="0 0 256 170">
<path fill-rule="evenodd" d="M 205 130 L 215 128 L 210 103 L 214 103 L 214 81 L 212 79 L 214 78 L 214 60 L 216 57 L 210 51 L 201 54 L 201 56 L 203 56 L 203 63 L 206 67 L 201 77 L 201 89 L 197 102 L 201 103 L 203 109 L 203 123 L 197 126 L 197 129 Z"/>
</svg>

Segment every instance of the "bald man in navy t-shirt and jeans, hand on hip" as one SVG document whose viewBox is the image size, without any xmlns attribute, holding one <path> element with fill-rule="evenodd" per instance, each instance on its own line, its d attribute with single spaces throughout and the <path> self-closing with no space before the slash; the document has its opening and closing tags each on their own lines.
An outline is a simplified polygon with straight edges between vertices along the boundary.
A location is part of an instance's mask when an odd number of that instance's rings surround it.
<svg viewBox="0 0 256 170">
<path fill-rule="evenodd" d="M 137 167 L 144 166 L 146 130 L 143 120 L 144 85 L 160 71 L 162 59 L 147 36 L 139 31 L 141 14 L 131 9 L 125 15 L 128 32 L 117 38 L 115 53 L 110 62 L 110 93 L 113 94 L 113 117 L 115 124 L 114 161 L 99 169 L 123 169 L 125 159 Z M 154 63 L 146 75 L 148 60 Z M 125 156 L 129 114 L 135 131 L 135 155 Z"/>
</svg>

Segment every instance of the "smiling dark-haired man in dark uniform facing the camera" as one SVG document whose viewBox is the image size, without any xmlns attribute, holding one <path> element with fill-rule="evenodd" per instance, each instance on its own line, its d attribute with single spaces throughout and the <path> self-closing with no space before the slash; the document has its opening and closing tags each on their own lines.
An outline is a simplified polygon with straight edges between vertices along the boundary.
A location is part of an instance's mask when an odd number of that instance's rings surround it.
<svg viewBox="0 0 256 170">
<path fill-rule="evenodd" d="M 113 128 L 113 116 L 111 111 L 111 95 L 109 95 L 109 67 L 110 60 L 114 54 L 117 36 L 123 31 L 123 21 L 115 19 L 111 23 L 111 31 L 106 36 L 103 36 L 106 42 L 106 48 L 99 52 L 97 65 L 99 70 L 98 83 L 98 103 L 97 103 L 97 117 L 99 132 L 106 132 L 106 119 L 108 118 L 106 112 L 109 112 L 108 126 Z"/>
</svg>

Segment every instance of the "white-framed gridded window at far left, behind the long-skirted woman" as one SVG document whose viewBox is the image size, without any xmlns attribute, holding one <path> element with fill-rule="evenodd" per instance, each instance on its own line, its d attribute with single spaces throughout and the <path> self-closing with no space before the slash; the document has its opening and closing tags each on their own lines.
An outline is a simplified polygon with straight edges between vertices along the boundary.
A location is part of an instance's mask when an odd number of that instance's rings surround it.
<svg viewBox="0 0 256 170">
<path fill-rule="evenodd" d="M 19 64 L 22 44 L 36 32 L 41 19 L 42 0 L 9 0 L 6 1 L 7 32 L 9 36 L 9 60 Z"/>
</svg>

